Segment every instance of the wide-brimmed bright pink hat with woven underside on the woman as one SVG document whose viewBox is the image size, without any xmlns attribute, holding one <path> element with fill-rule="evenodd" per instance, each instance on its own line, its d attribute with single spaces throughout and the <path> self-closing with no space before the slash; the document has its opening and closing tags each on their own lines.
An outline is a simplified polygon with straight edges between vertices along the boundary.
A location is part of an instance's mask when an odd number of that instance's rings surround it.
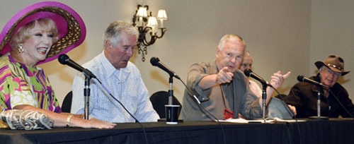
<svg viewBox="0 0 354 144">
<path fill-rule="evenodd" d="M 50 18 L 55 22 L 59 32 L 59 40 L 52 45 L 47 58 L 38 64 L 57 59 L 59 54 L 66 54 L 84 42 L 86 27 L 79 14 L 69 6 L 57 1 L 42 1 L 18 11 L 6 23 L 0 34 L 0 54 L 3 55 L 11 51 L 10 41 L 19 28 L 40 18 Z"/>
</svg>

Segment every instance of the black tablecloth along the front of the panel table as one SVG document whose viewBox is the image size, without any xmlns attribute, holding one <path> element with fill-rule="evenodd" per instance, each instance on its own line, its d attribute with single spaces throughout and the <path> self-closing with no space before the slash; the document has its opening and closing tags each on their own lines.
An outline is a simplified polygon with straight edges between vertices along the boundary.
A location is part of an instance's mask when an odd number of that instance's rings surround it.
<svg viewBox="0 0 354 144">
<path fill-rule="evenodd" d="M 299 123 L 234 124 L 214 121 L 142 123 L 149 143 L 354 143 L 354 121 L 306 121 Z M 1 143 L 145 143 L 139 124 L 118 124 L 113 129 L 53 128 L 10 130 L 0 128 Z"/>
</svg>

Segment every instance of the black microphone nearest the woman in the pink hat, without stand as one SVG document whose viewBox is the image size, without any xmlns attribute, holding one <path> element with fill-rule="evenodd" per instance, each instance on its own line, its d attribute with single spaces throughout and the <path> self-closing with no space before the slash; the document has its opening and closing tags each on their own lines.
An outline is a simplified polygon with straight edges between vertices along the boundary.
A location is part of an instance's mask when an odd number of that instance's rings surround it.
<svg viewBox="0 0 354 144">
<path fill-rule="evenodd" d="M 60 64 L 67 64 L 68 66 L 75 68 L 77 71 L 80 71 L 81 73 L 84 73 L 85 75 L 90 76 L 91 78 L 96 78 L 96 76 L 91 73 L 91 71 L 80 66 L 79 64 L 76 64 L 75 61 L 72 61 L 72 59 L 70 59 L 67 54 L 60 54 L 60 56 L 58 57 L 58 61 Z"/>
</svg>

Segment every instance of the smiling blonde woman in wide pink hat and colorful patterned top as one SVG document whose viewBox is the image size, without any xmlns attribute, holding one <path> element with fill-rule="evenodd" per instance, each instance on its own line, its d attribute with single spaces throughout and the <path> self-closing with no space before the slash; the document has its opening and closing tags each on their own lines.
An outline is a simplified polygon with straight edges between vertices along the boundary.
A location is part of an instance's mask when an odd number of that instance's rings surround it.
<svg viewBox="0 0 354 144">
<path fill-rule="evenodd" d="M 0 35 L 0 107 L 45 113 L 54 126 L 113 128 L 115 124 L 62 113 L 47 76 L 37 66 L 79 46 L 85 36 L 80 16 L 59 2 L 40 2 L 16 13 Z"/>
</svg>

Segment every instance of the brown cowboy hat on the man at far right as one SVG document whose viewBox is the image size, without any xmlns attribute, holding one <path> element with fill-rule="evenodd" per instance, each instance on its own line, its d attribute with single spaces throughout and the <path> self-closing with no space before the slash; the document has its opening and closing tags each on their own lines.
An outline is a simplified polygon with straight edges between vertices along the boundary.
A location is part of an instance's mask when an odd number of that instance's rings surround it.
<svg viewBox="0 0 354 144">
<path fill-rule="evenodd" d="M 327 68 L 330 68 L 334 72 L 341 73 L 341 76 L 344 76 L 350 72 L 344 70 L 344 60 L 335 54 L 331 54 L 327 56 L 324 62 L 316 61 L 316 63 L 314 64 L 316 65 L 317 68 L 326 66 Z"/>
</svg>

